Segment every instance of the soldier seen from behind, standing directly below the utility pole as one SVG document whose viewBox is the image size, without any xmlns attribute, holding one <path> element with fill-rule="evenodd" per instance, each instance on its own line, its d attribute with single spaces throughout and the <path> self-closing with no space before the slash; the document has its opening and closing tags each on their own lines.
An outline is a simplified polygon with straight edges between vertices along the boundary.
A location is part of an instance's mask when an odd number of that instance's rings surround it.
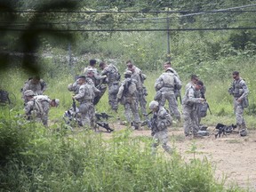
<svg viewBox="0 0 256 192">
<path fill-rule="evenodd" d="M 170 111 L 180 121 L 180 111 L 174 94 L 174 86 L 180 90 L 182 86 L 180 79 L 174 75 L 172 68 L 166 68 L 165 72 L 156 79 L 155 89 L 160 94 L 156 100 L 159 101 L 160 107 L 164 107 L 165 100 L 168 100 Z"/>
</svg>

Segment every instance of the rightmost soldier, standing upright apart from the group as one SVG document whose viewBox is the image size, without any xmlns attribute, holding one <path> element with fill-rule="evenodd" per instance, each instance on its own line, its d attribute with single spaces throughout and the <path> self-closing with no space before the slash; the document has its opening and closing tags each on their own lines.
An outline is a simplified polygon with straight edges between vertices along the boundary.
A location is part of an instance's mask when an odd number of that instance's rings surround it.
<svg viewBox="0 0 256 192">
<path fill-rule="evenodd" d="M 247 128 L 244 121 L 244 108 L 249 106 L 248 102 L 248 87 L 243 78 L 239 76 L 238 71 L 233 72 L 233 83 L 229 88 L 228 92 L 234 97 L 234 111 L 236 113 L 236 124 L 239 128 L 240 135 L 247 135 Z"/>
</svg>

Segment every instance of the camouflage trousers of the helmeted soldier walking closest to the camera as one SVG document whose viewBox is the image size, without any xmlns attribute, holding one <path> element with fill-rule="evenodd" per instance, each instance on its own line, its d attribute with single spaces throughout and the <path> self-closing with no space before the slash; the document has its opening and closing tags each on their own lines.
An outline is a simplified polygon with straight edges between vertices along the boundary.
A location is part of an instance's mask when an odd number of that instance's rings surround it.
<svg viewBox="0 0 256 192">
<path fill-rule="evenodd" d="M 152 154 L 156 154 L 156 148 L 159 146 L 159 144 L 162 145 L 162 148 L 164 148 L 164 151 L 166 151 L 169 154 L 172 154 L 172 148 L 167 145 L 168 142 L 168 131 L 167 129 L 164 129 L 162 131 L 156 132 L 153 136 L 153 144 L 152 144 Z"/>
</svg>

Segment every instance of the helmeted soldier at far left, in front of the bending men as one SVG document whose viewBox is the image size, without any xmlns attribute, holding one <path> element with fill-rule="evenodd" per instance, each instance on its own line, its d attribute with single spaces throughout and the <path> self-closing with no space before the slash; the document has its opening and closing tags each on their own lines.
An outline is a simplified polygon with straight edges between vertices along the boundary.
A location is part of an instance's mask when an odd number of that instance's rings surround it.
<svg viewBox="0 0 256 192">
<path fill-rule="evenodd" d="M 24 99 L 27 100 L 24 111 L 28 120 L 36 120 L 37 122 L 42 121 L 44 116 L 44 109 L 37 100 L 34 99 L 35 92 L 27 90 L 24 92 Z"/>
</svg>

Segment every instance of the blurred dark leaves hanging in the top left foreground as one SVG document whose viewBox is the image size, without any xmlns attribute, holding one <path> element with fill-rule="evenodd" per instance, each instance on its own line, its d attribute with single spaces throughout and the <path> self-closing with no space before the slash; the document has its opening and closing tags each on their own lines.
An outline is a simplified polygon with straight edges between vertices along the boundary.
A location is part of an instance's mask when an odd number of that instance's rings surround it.
<svg viewBox="0 0 256 192">
<path fill-rule="evenodd" d="M 23 28 L 13 28 L 15 23 L 20 20 L 20 15 L 17 10 L 8 1 L 0 1 L 0 70 L 6 70 L 15 67 L 25 69 L 30 74 L 39 75 L 41 66 L 36 60 L 36 51 L 40 47 L 40 37 L 52 36 L 55 40 L 60 42 L 64 40 L 71 41 L 72 36 L 67 33 L 61 33 L 61 28 L 56 28 L 51 25 L 51 18 L 44 14 L 44 12 L 53 11 L 71 11 L 76 8 L 76 2 L 69 0 L 47 1 L 47 4 L 38 4 L 35 12 L 26 22 L 27 25 Z M 54 14 L 54 13 L 52 13 Z M 44 20 L 44 25 L 38 25 L 40 20 Z M 48 24 L 49 23 L 49 24 Z M 8 49 L 8 37 L 12 39 L 12 48 Z M 4 49 L 1 48 L 1 42 L 7 44 Z M 19 60 L 15 60 L 13 51 L 19 50 Z"/>
</svg>

